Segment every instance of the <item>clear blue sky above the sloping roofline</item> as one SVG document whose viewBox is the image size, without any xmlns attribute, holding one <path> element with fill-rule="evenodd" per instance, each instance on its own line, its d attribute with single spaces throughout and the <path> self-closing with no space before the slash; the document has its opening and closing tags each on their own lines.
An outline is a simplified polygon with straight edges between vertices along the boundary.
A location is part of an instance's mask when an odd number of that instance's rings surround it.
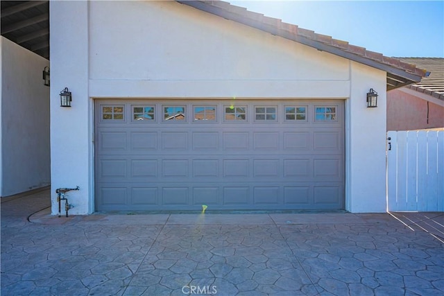
<svg viewBox="0 0 444 296">
<path fill-rule="evenodd" d="M 389 57 L 444 58 L 444 1 L 230 1 Z"/>
</svg>

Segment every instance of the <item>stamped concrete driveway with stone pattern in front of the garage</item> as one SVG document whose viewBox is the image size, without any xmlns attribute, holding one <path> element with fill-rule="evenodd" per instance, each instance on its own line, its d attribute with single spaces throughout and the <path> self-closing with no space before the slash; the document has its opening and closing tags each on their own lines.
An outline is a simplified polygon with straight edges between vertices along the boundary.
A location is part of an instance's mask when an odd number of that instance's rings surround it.
<svg viewBox="0 0 444 296">
<path fill-rule="evenodd" d="M 49 195 L 1 199 L 1 295 L 444 294 L 443 213 L 58 218 Z"/>
</svg>

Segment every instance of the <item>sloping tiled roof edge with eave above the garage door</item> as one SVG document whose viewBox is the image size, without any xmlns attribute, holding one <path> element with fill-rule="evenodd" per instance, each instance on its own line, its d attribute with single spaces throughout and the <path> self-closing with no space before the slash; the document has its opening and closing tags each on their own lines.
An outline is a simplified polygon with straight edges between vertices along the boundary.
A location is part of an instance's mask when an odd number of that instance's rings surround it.
<svg viewBox="0 0 444 296">
<path fill-rule="evenodd" d="M 326 51 L 386 71 L 387 90 L 419 82 L 422 76 L 425 76 L 424 70 L 415 67 L 413 64 L 402 62 L 398 58 L 389 58 L 382 55 L 382 53 L 368 51 L 364 47 L 314 33 L 314 31 L 299 28 L 296 25 L 287 24 L 280 19 L 266 17 L 257 12 L 248 11 L 246 8 L 234 6 L 225 1 L 177 1 L 198 10 L 314 47 L 320 51 Z"/>
</svg>

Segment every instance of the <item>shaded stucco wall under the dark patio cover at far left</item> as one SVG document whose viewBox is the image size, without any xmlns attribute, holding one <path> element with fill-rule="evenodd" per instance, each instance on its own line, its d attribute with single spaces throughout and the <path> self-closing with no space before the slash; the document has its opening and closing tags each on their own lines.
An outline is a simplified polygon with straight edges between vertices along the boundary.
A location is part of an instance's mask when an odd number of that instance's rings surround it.
<svg viewBox="0 0 444 296">
<path fill-rule="evenodd" d="M 0 195 L 49 185 L 49 60 L 1 37 Z"/>
</svg>

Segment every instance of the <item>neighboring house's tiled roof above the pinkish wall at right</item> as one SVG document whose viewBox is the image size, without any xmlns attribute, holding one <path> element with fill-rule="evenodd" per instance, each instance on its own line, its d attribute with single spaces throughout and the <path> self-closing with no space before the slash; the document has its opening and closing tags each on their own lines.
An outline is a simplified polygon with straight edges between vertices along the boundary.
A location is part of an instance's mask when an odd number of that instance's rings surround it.
<svg viewBox="0 0 444 296">
<path fill-rule="evenodd" d="M 420 82 L 408 85 L 409 89 L 428 94 L 444 101 L 444 58 L 399 58 L 402 62 L 416 64 L 416 67 L 430 73 Z"/>
</svg>

